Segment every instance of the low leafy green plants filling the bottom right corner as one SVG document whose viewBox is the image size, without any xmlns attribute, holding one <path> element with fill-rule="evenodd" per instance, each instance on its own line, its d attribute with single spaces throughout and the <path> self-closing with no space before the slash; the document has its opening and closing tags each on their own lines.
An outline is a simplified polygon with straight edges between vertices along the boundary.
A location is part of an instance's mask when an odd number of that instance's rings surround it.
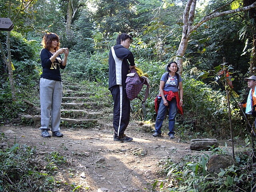
<svg viewBox="0 0 256 192">
<path fill-rule="evenodd" d="M 246 153 L 238 154 L 238 165 L 231 165 L 226 169 L 220 169 L 217 176 L 213 176 L 207 171 L 208 155 L 187 156 L 179 163 L 172 162 L 171 159 L 160 162 L 163 168 L 165 180 L 154 180 L 153 189 L 160 189 L 161 192 L 232 192 L 242 190 L 250 192 L 254 186 L 256 169 L 252 162 L 252 157 Z M 247 163 L 246 163 L 247 162 Z"/>
</svg>

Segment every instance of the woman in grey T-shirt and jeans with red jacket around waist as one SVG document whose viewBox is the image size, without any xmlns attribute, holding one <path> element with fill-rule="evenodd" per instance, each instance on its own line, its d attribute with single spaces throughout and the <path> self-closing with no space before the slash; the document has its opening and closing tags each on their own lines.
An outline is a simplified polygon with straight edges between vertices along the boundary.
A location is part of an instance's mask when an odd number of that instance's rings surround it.
<svg viewBox="0 0 256 192">
<path fill-rule="evenodd" d="M 152 135 L 154 137 L 161 136 L 161 127 L 164 121 L 167 108 L 169 108 L 169 133 L 168 136 L 170 139 L 174 137 L 174 124 L 175 116 L 177 112 L 183 114 L 182 105 L 183 105 L 183 87 L 182 87 L 182 78 L 177 73 L 178 65 L 176 62 L 170 62 L 167 65 L 167 71 L 164 73 L 160 80 L 160 96 L 162 97 L 159 104 L 159 109 L 156 117 L 155 124 L 155 133 Z M 180 90 L 180 97 L 178 94 Z"/>
</svg>

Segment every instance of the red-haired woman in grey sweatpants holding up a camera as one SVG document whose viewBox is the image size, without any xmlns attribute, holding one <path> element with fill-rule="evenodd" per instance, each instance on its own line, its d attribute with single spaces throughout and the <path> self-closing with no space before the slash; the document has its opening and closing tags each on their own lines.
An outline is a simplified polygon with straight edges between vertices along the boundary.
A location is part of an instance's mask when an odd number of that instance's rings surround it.
<svg viewBox="0 0 256 192">
<path fill-rule="evenodd" d="M 60 69 L 66 67 L 68 48 L 60 48 L 59 37 L 55 33 L 45 34 L 44 47 L 40 51 L 43 72 L 40 78 L 40 105 L 42 137 L 63 137 L 60 132 L 60 107 L 62 101 L 62 82 Z M 60 54 L 64 53 L 62 59 Z"/>
</svg>

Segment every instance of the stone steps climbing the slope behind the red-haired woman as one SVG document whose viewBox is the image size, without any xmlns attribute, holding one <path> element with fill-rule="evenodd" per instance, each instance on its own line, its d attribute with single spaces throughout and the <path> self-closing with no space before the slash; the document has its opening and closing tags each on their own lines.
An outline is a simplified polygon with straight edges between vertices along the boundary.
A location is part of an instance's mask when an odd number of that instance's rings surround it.
<svg viewBox="0 0 256 192">
<path fill-rule="evenodd" d="M 95 97 L 96 94 L 98 96 L 97 92 L 88 91 L 86 86 L 77 86 L 76 84 L 64 82 L 60 126 L 90 128 L 100 126 L 99 119 L 104 118 L 104 116 L 111 119 L 111 104 L 108 100 Z M 109 94 L 110 92 L 106 91 L 106 95 L 109 96 Z M 23 123 L 31 124 L 31 122 L 34 122 L 35 125 L 38 125 L 40 124 L 41 116 L 23 115 L 21 119 Z"/>
</svg>

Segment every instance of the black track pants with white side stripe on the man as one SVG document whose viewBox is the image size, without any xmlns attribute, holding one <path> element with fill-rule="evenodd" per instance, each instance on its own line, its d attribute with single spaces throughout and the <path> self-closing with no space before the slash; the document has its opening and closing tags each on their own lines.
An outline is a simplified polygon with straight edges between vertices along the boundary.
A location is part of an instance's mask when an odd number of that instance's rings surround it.
<svg viewBox="0 0 256 192">
<path fill-rule="evenodd" d="M 113 126 L 115 136 L 122 136 L 130 120 L 130 100 L 126 95 L 125 86 L 116 85 L 110 88 L 114 100 Z"/>
</svg>

